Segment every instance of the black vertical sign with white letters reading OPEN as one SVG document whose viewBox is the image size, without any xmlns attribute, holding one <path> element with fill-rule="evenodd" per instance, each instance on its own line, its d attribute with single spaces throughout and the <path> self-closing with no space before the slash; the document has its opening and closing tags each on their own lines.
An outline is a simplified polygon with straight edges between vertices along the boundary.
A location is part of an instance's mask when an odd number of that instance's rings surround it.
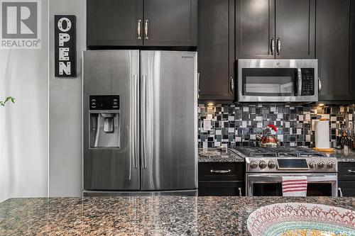
<svg viewBox="0 0 355 236">
<path fill-rule="evenodd" d="M 55 77 L 76 77 L 76 16 L 55 15 Z"/>
</svg>

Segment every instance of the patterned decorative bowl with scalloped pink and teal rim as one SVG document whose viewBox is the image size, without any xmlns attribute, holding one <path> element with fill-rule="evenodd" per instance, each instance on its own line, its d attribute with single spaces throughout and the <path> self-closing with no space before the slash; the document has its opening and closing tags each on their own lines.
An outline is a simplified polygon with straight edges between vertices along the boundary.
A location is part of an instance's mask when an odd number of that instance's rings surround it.
<svg viewBox="0 0 355 236">
<path fill-rule="evenodd" d="M 252 236 L 355 235 L 355 211 L 311 203 L 278 203 L 253 211 Z"/>
</svg>

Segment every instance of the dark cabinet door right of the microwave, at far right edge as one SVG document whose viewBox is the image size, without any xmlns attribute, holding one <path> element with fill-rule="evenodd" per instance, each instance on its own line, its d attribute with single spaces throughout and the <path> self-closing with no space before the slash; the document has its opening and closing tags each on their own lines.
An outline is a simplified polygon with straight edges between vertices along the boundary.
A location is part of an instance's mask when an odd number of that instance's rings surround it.
<svg viewBox="0 0 355 236">
<path fill-rule="evenodd" d="M 349 79 L 349 0 L 318 0 L 316 58 L 322 82 L 320 101 L 354 99 Z"/>
</svg>

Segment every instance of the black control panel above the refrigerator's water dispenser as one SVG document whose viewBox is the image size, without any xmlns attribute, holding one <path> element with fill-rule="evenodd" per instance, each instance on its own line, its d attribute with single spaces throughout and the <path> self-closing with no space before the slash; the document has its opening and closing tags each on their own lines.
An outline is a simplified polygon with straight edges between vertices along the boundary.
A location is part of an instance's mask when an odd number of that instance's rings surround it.
<svg viewBox="0 0 355 236">
<path fill-rule="evenodd" d="M 90 110 L 119 110 L 119 95 L 89 96 Z"/>
</svg>

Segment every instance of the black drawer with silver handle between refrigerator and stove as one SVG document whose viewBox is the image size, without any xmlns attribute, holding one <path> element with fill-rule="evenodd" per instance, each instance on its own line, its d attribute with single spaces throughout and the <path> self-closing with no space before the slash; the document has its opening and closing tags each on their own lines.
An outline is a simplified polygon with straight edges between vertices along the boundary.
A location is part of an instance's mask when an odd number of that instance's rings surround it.
<svg viewBox="0 0 355 236">
<path fill-rule="evenodd" d="M 244 163 L 200 163 L 199 181 L 201 180 L 244 180 Z"/>
</svg>

